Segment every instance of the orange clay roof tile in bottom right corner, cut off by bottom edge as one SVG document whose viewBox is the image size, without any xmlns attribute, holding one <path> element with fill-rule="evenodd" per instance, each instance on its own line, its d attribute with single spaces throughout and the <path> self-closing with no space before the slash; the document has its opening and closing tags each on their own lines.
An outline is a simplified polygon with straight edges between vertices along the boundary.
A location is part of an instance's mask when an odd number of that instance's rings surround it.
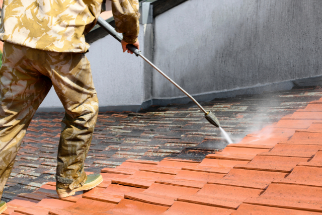
<svg viewBox="0 0 322 215">
<path fill-rule="evenodd" d="M 278 207 L 268 207 L 261 205 L 252 205 L 252 204 L 240 204 L 238 209 L 231 213 L 231 215 L 317 215 L 321 214 L 318 212 L 311 212 L 305 210 L 292 210 Z"/>
</svg>

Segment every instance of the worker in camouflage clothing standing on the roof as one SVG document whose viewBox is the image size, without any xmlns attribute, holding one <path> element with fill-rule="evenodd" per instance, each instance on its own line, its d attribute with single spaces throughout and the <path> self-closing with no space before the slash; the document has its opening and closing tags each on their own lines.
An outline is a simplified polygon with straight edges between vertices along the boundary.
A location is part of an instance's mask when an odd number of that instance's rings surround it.
<svg viewBox="0 0 322 215">
<path fill-rule="evenodd" d="M 111 3 L 116 30 L 123 33 L 123 52 L 127 44 L 139 48 L 138 0 Z M 4 0 L 0 197 L 28 125 L 52 86 L 65 109 L 57 155 L 58 196 L 89 190 L 103 181 L 101 174 L 84 171 L 99 107 L 85 56 L 90 47 L 85 35 L 96 25 L 103 4 L 103 0 Z M 0 213 L 6 207 L 1 201 Z"/>
</svg>

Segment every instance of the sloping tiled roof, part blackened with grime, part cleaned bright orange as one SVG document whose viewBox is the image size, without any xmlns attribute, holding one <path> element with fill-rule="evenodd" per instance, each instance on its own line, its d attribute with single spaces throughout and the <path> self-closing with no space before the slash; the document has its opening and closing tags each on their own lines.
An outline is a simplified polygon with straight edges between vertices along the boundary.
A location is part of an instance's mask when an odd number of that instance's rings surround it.
<svg viewBox="0 0 322 215">
<path fill-rule="evenodd" d="M 193 103 L 100 113 L 85 166 L 104 181 L 64 199 L 54 182 L 63 113 L 37 113 L 4 214 L 322 214 L 321 97 L 307 87 L 202 103 L 228 146 Z"/>
</svg>

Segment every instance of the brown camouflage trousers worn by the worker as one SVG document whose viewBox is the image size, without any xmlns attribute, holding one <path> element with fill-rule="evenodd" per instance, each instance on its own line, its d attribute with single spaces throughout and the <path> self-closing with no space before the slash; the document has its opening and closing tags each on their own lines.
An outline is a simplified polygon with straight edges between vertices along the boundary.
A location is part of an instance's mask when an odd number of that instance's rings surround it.
<svg viewBox="0 0 322 215">
<path fill-rule="evenodd" d="M 58 53 L 4 43 L 0 69 L 0 197 L 27 127 L 54 87 L 65 109 L 57 155 L 57 186 L 85 183 L 83 170 L 98 115 L 90 63 L 84 53 Z"/>
</svg>

